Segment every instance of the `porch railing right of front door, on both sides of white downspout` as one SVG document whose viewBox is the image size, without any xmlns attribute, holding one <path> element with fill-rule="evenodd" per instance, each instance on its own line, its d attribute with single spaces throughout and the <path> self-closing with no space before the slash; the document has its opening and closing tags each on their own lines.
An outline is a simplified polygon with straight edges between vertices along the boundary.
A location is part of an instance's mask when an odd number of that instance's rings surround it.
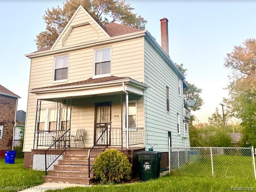
<svg viewBox="0 0 256 192">
<path fill-rule="evenodd" d="M 126 143 L 126 131 L 122 128 L 111 128 L 111 146 L 123 146 Z M 129 128 L 129 145 L 143 144 L 143 128 Z"/>
</svg>

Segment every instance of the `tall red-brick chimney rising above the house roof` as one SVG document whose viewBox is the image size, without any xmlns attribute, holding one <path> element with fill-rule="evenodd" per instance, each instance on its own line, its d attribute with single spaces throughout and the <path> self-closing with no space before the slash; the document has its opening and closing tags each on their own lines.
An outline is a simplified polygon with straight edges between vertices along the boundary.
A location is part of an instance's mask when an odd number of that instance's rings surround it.
<svg viewBox="0 0 256 192">
<path fill-rule="evenodd" d="M 161 47 L 169 56 L 169 38 L 168 38 L 168 20 L 167 18 L 160 19 L 161 22 Z"/>
</svg>

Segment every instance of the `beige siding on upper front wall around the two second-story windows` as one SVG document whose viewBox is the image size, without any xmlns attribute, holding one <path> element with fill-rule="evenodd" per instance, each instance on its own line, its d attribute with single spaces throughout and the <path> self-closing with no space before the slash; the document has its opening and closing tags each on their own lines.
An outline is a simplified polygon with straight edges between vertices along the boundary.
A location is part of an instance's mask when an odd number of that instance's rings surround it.
<svg viewBox="0 0 256 192">
<path fill-rule="evenodd" d="M 94 49 L 112 47 L 111 75 L 130 77 L 143 82 L 144 46 L 143 38 L 84 48 L 62 54 L 32 58 L 30 70 L 30 90 L 34 88 L 54 86 L 77 82 L 92 78 Z M 133 49 L 133 47 L 137 47 Z M 53 83 L 54 57 L 69 55 L 68 81 Z"/>
</svg>

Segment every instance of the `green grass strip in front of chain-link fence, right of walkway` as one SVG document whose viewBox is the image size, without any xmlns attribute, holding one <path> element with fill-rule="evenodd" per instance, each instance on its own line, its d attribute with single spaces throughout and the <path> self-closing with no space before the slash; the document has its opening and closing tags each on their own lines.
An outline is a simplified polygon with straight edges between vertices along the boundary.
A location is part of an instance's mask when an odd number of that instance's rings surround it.
<svg viewBox="0 0 256 192">
<path fill-rule="evenodd" d="M 202 178 L 184 176 L 164 176 L 157 180 L 125 185 L 107 185 L 92 187 L 73 187 L 47 192 L 227 192 L 234 187 L 252 187 L 256 190 L 255 180 Z M 252 189 L 251 188 L 251 189 Z"/>
</svg>

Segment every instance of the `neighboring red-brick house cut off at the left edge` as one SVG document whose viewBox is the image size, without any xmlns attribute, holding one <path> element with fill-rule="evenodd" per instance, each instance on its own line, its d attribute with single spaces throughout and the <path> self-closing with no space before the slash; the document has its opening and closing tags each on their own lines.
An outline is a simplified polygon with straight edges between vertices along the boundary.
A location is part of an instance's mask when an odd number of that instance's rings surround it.
<svg viewBox="0 0 256 192">
<path fill-rule="evenodd" d="M 20 96 L 0 85 L 0 158 L 12 146 L 13 128 Z"/>
</svg>

